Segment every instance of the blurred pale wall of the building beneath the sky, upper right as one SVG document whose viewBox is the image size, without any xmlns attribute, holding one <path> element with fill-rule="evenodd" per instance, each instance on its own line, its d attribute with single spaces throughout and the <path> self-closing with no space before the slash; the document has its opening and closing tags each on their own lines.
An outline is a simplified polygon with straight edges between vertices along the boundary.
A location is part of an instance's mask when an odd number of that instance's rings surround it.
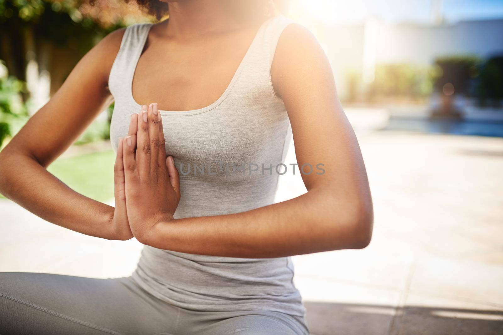
<svg viewBox="0 0 503 335">
<path fill-rule="evenodd" d="M 439 56 L 503 54 L 503 19 L 453 24 L 392 24 L 368 20 L 346 26 L 309 27 L 318 36 L 333 68 L 339 95 L 350 93 L 348 78 L 374 78 L 376 64 L 431 65 Z"/>
</svg>

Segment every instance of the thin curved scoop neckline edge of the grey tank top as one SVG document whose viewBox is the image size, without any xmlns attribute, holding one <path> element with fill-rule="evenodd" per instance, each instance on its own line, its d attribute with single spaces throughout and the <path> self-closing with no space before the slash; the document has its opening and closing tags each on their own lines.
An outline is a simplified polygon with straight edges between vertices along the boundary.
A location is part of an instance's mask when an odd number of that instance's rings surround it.
<svg viewBox="0 0 503 335">
<path fill-rule="evenodd" d="M 159 109 L 159 113 L 161 115 L 195 115 L 195 114 L 201 114 L 201 113 L 210 111 L 210 110 L 214 109 L 215 107 L 217 107 L 218 105 L 220 105 L 227 98 L 227 96 L 231 92 L 232 88 L 234 87 L 234 84 L 236 83 L 237 79 L 239 78 L 239 75 L 241 73 L 242 68 L 244 67 L 244 64 L 246 63 L 246 60 L 249 58 L 249 55 L 251 54 L 251 50 L 253 49 L 254 45 L 257 43 L 257 40 L 259 38 L 260 33 L 262 32 L 262 30 L 264 29 L 264 27 L 266 26 L 266 24 L 272 18 L 273 17 L 271 17 L 271 18 L 267 19 L 266 21 L 264 21 L 262 23 L 262 25 L 259 27 L 259 29 L 257 30 L 257 33 L 255 34 L 255 37 L 251 41 L 251 44 L 249 45 L 248 49 L 246 50 L 246 53 L 244 54 L 244 57 L 242 58 L 242 60 L 239 63 L 236 71 L 234 72 L 234 75 L 232 76 L 232 79 L 230 80 L 229 84 L 225 88 L 225 90 L 222 93 L 222 95 L 215 102 L 213 102 L 212 104 L 210 104 L 210 105 L 208 105 L 206 107 L 202 107 L 202 108 L 198 108 L 198 109 L 192 109 L 192 110 L 161 110 L 161 109 Z M 134 61 L 134 67 L 132 67 L 132 71 L 131 71 L 131 73 L 129 75 L 129 81 L 128 81 L 129 82 L 129 85 L 128 85 L 128 87 L 129 87 L 129 90 L 128 90 L 128 92 L 129 92 L 129 98 L 130 98 L 130 100 L 133 102 L 133 104 L 138 109 L 141 108 L 142 105 L 140 105 L 135 100 L 135 98 L 133 96 L 133 79 L 134 79 L 134 74 L 136 72 L 136 67 L 138 66 L 138 61 L 140 60 L 143 48 L 145 47 L 145 43 L 147 41 L 148 34 L 149 34 L 150 29 L 152 28 L 152 26 L 153 26 L 153 24 L 149 24 L 149 27 L 146 29 L 146 32 L 141 37 L 141 41 L 140 41 L 139 46 L 138 46 L 138 51 L 137 51 L 137 53 L 135 55 L 135 58 L 133 59 L 133 61 Z"/>
</svg>

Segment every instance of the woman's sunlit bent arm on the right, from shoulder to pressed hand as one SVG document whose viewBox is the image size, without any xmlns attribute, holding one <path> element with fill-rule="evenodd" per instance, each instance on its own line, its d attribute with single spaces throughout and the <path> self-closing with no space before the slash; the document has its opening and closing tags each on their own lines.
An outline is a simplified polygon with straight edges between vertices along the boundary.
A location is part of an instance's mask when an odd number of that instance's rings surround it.
<svg viewBox="0 0 503 335">
<path fill-rule="evenodd" d="M 359 249 L 370 243 L 372 199 L 360 148 L 339 102 L 328 60 L 305 28 L 290 25 L 285 29 L 271 77 L 288 111 L 298 165 L 323 163 L 325 173 L 302 174 L 307 193 L 288 201 L 239 214 L 173 219 L 172 211 L 158 208 L 162 205 L 153 199 L 155 195 L 131 189 L 141 190 L 140 179 L 147 178 L 135 177 L 138 170 L 141 173 L 141 161 L 131 160 L 132 147 L 126 145 L 128 218 L 141 243 L 178 252 L 243 258 Z M 151 111 L 148 116 L 147 123 L 158 122 Z M 140 140 L 145 136 L 137 138 L 138 148 L 144 147 Z M 156 143 L 155 139 L 147 141 Z M 137 156 L 150 151 L 139 150 Z M 170 163 L 167 165 L 172 184 L 176 184 L 174 165 L 171 169 Z M 128 188 L 132 191 L 129 194 Z"/>
</svg>

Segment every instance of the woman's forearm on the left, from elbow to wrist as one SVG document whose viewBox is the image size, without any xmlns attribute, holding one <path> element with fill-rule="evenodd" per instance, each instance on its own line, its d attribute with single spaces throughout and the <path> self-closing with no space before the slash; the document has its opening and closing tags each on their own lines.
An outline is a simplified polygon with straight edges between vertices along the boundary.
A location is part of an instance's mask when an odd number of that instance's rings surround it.
<svg viewBox="0 0 503 335">
<path fill-rule="evenodd" d="M 0 160 L 0 193 L 58 226 L 115 239 L 109 224 L 113 207 L 71 190 L 32 157 L 10 153 Z"/>
</svg>

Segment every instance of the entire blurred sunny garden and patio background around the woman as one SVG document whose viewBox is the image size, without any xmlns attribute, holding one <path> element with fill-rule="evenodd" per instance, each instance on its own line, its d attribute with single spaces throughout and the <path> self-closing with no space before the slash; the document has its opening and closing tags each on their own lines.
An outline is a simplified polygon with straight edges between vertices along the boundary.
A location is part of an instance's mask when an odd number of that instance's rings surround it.
<svg viewBox="0 0 503 335">
<path fill-rule="evenodd" d="M 368 248 L 293 257 L 313 334 L 503 333 L 503 1 L 280 7 L 330 60 L 375 207 Z M 118 0 L 0 0 L 0 149 L 101 38 L 150 20 Z M 49 171 L 113 205 L 111 113 Z M 277 200 L 304 192 L 287 174 Z M 134 239 L 80 235 L 1 196 L 0 212 L 0 271 L 107 278 L 135 268 Z"/>
</svg>

